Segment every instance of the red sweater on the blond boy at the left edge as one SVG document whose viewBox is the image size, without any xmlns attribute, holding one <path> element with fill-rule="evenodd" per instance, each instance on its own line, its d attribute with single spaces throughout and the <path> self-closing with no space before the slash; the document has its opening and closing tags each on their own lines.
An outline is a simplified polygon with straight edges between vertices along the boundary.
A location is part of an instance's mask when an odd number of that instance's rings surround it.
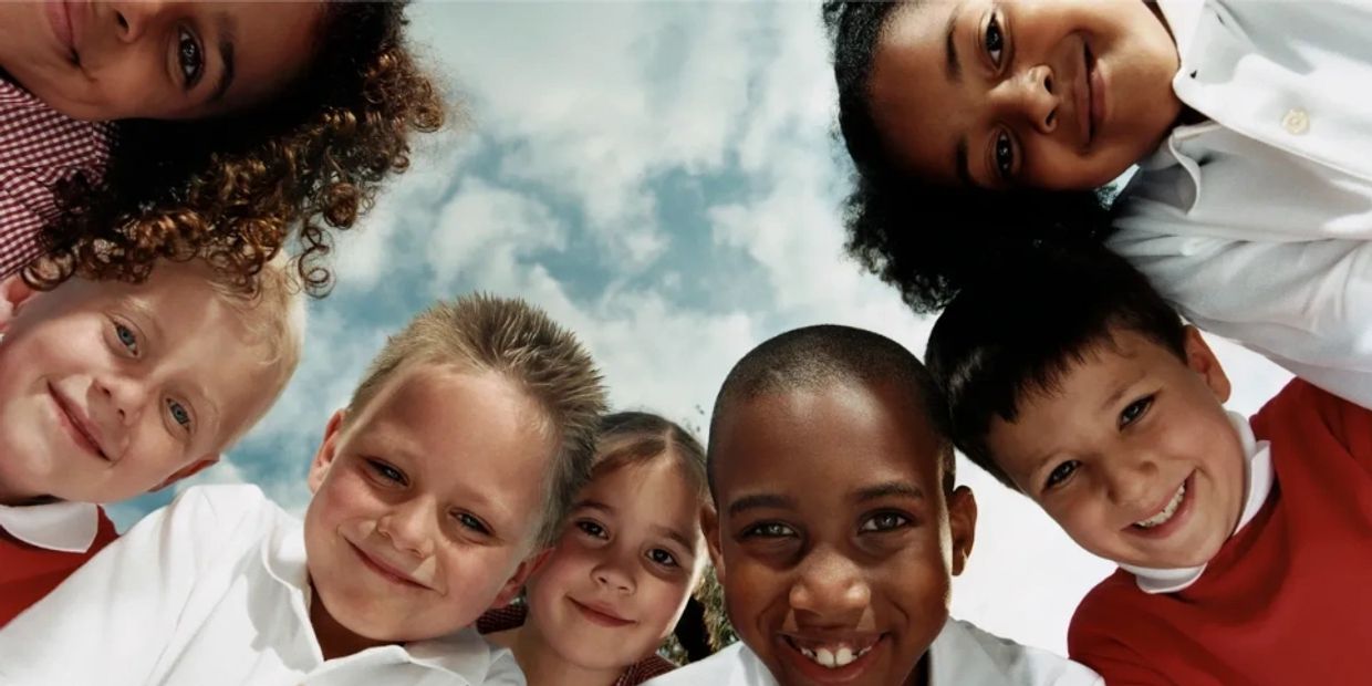
<svg viewBox="0 0 1372 686">
<path fill-rule="evenodd" d="M 63 553 L 30 546 L 0 530 L 0 627 L 43 600 L 63 579 L 118 538 L 114 523 L 100 510 L 100 527 L 85 553 Z"/>
</svg>

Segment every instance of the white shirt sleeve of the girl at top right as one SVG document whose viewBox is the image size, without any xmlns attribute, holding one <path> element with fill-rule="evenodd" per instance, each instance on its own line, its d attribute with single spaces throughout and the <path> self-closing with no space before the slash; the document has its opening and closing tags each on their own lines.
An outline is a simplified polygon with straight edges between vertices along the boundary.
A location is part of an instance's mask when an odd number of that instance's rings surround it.
<svg viewBox="0 0 1372 686">
<path fill-rule="evenodd" d="M 1372 243 L 1140 233 L 1110 247 L 1200 329 L 1372 407 Z"/>
</svg>

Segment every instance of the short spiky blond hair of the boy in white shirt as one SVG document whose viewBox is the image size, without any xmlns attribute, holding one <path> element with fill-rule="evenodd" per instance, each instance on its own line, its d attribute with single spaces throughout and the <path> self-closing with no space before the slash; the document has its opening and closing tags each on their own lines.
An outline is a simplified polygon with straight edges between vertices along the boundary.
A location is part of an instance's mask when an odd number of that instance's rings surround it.
<svg viewBox="0 0 1372 686">
<path fill-rule="evenodd" d="M 547 469 L 538 545 L 552 545 L 590 477 L 605 412 L 605 387 L 590 354 L 572 332 L 521 299 L 475 294 L 438 302 L 387 339 L 353 391 L 347 416 L 361 413 L 399 370 L 425 364 L 495 372 L 543 410 L 557 450 Z"/>
</svg>

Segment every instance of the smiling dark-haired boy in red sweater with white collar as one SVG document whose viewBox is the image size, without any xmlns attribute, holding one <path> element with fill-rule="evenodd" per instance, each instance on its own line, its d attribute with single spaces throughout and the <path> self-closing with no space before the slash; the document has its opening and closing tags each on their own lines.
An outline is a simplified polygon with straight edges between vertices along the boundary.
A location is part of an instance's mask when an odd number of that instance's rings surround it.
<svg viewBox="0 0 1372 686">
<path fill-rule="evenodd" d="M 1120 564 L 1073 659 L 1111 685 L 1372 682 L 1372 412 L 1295 380 L 1227 413 L 1199 332 L 1103 250 L 965 289 L 927 359 L 967 457 Z"/>
</svg>

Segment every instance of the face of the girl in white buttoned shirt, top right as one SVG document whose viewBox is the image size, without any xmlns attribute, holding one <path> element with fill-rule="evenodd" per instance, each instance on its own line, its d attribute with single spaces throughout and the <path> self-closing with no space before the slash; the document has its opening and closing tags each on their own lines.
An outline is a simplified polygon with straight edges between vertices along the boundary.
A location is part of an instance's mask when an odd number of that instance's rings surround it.
<svg viewBox="0 0 1372 686">
<path fill-rule="evenodd" d="M 1155 148 L 1181 104 L 1166 25 L 1139 0 L 915 0 L 877 48 L 873 115 L 947 185 L 1087 189 Z"/>
</svg>

